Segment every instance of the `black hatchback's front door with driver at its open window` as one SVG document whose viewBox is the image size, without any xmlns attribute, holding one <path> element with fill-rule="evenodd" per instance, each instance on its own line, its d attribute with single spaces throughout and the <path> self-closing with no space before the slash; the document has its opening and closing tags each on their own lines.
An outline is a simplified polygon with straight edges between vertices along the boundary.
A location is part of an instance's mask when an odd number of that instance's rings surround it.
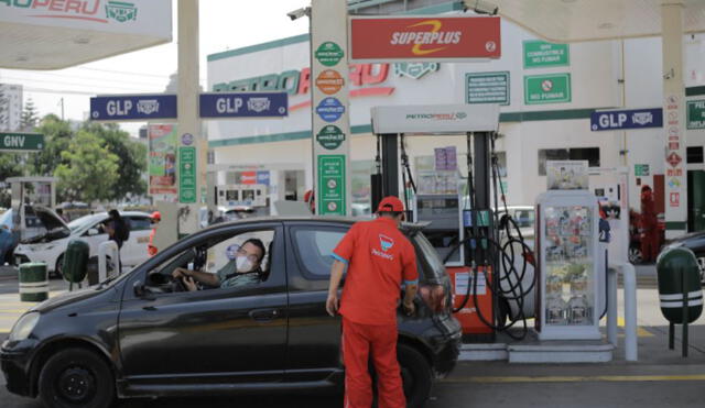
<svg viewBox="0 0 705 408">
<path fill-rule="evenodd" d="M 284 242 L 279 223 L 224 228 L 194 234 L 155 255 L 144 268 L 173 267 L 189 252 L 203 253 L 206 239 L 226 239 L 209 246 L 206 267 L 220 267 L 231 253 L 227 240 L 271 231 L 268 277 L 248 287 L 138 296 L 132 287 L 147 271 L 128 282 L 119 318 L 122 371 L 130 386 L 148 384 L 235 384 L 281 381 L 285 365 L 288 295 Z M 269 253 L 268 249 L 268 253 Z M 212 258 L 212 254 L 215 256 Z M 180 261 L 176 261 L 178 264 Z M 152 268 L 152 265 L 158 265 Z M 162 276 L 162 275 L 159 275 Z"/>
</svg>

